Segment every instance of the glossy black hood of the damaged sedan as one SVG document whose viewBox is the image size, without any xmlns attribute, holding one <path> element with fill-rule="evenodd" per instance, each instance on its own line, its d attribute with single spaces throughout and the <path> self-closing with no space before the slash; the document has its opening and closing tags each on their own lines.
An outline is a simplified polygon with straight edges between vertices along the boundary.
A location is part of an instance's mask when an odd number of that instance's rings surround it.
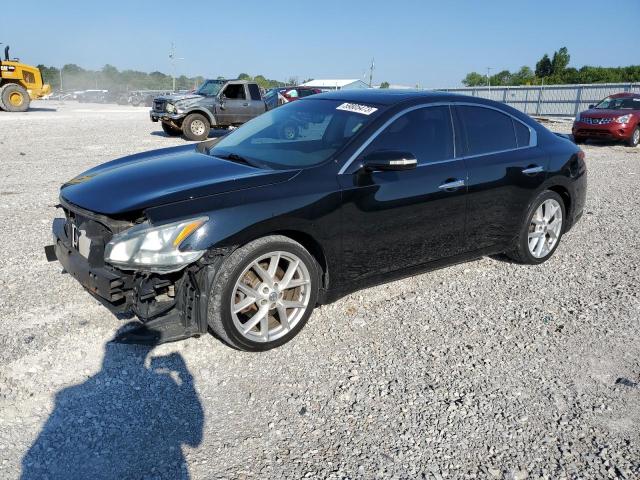
<svg viewBox="0 0 640 480">
<path fill-rule="evenodd" d="M 285 182 L 298 170 L 267 170 L 223 160 L 202 144 L 138 153 L 99 165 L 65 183 L 67 202 L 104 215 Z"/>
</svg>

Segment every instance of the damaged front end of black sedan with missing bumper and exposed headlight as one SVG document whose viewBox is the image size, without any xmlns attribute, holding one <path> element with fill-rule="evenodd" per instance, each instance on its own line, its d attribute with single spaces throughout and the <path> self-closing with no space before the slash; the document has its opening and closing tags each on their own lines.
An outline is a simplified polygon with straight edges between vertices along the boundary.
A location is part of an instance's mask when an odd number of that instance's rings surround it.
<svg viewBox="0 0 640 480">
<path fill-rule="evenodd" d="M 144 219 L 113 219 L 64 201 L 60 207 L 65 218 L 54 220 L 54 245 L 45 247 L 47 259 L 57 259 L 67 273 L 114 314 L 132 313 L 138 317 L 141 325 L 120 334 L 115 341 L 155 345 L 207 331 L 209 286 L 223 252 L 187 252 L 189 255 L 180 261 L 198 257 L 187 265 L 151 264 L 171 255 L 163 253 L 158 242 L 175 242 L 173 250 L 177 251 L 180 242 L 197 228 L 161 238 L 163 232 L 158 234 L 158 229 L 144 223 Z M 182 238 L 178 238 L 180 234 Z M 134 256 L 136 249 L 141 253 Z M 129 260 L 136 265 L 128 264 Z"/>
</svg>

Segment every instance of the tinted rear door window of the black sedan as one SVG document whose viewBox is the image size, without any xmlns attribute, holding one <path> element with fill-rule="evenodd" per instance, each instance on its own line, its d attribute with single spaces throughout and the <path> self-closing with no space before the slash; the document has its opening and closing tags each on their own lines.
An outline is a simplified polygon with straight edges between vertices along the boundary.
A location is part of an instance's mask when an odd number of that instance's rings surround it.
<svg viewBox="0 0 640 480">
<path fill-rule="evenodd" d="M 468 106 L 457 108 L 467 132 L 469 155 L 482 155 L 517 147 L 516 134 L 510 116 L 490 108 Z"/>
</svg>

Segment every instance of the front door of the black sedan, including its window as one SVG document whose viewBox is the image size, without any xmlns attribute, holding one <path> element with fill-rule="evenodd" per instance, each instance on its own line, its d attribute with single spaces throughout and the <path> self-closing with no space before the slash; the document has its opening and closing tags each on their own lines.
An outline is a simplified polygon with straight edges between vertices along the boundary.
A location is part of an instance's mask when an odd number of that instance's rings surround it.
<svg viewBox="0 0 640 480">
<path fill-rule="evenodd" d="M 356 159 L 339 174 L 345 282 L 462 251 L 467 174 L 453 139 L 449 106 L 420 106 L 392 121 L 358 157 L 410 152 L 415 169 L 366 172 Z"/>
</svg>

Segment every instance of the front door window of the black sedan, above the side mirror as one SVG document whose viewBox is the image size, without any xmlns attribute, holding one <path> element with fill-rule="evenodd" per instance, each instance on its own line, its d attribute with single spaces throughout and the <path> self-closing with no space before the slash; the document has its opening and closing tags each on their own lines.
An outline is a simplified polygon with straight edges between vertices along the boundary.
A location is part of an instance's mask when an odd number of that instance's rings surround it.
<svg viewBox="0 0 640 480">
<path fill-rule="evenodd" d="M 397 118 L 367 147 L 365 155 L 390 150 L 413 153 L 418 164 L 453 158 L 449 107 L 427 107 Z"/>
</svg>

